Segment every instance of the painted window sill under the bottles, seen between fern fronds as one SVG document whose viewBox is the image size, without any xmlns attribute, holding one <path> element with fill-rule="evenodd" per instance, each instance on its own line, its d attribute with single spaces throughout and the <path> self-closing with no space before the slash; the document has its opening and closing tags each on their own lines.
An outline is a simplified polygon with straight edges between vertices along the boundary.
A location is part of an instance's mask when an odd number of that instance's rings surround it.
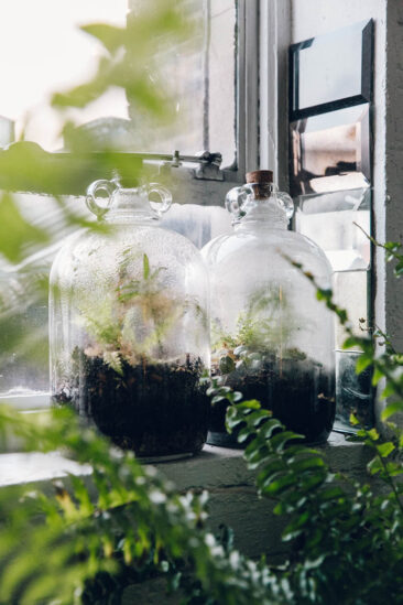
<svg viewBox="0 0 403 605">
<path fill-rule="evenodd" d="M 348 442 L 341 433 L 317 447 L 323 451 L 333 472 L 363 479 L 370 452 L 360 443 Z M 236 547 L 250 557 L 262 552 L 281 555 L 282 522 L 272 514 L 271 504 L 259 499 L 254 473 L 247 468 L 241 450 L 206 445 L 195 457 L 159 464 L 159 469 L 179 490 L 209 491 L 210 526 L 216 530 L 226 523 L 235 530 Z M 57 452 L 9 453 L 0 455 L 0 487 L 36 484 L 50 491 L 52 479 L 68 474 L 88 476 L 89 465 L 81 466 Z"/>
</svg>

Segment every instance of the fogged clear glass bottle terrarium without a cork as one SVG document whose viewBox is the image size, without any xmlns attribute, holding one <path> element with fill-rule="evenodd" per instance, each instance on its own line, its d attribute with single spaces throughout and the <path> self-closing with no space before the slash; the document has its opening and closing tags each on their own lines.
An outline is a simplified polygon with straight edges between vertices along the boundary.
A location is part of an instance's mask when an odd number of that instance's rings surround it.
<svg viewBox="0 0 403 605">
<path fill-rule="evenodd" d="M 196 247 L 160 226 L 171 202 L 155 184 L 92 183 L 87 205 L 105 230 L 73 236 L 51 271 L 53 402 L 151 460 L 199 451 L 210 409 L 199 383 L 210 363 L 208 274 Z"/>
</svg>

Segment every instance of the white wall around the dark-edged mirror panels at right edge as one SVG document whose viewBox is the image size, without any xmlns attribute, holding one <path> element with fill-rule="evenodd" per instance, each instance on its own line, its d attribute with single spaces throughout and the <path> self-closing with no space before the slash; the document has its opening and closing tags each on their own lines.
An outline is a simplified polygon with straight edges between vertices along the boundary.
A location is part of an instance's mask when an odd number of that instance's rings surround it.
<svg viewBox="0 0 403 605">
<path fill-rule="evenodd" d="M 292 0 L 291 41 L 374 20 L 373 209 L 381 242 L 403 242 L 403 2 L 401 0 Z M 382 249 L 374 259 L 375 323 L 403 350 L 403 281 Z"/>
</svg>

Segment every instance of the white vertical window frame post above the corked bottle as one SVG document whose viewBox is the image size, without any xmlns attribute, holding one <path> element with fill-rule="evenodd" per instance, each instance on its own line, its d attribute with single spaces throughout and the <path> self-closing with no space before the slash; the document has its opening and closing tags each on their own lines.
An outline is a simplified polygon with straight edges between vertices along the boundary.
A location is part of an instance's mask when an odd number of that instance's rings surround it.
<svg viewBox="0 0 403 605">
<path fill-rule="evenodd" d="M 238 0 L 237 150 L 235 166 L 217 171 L 173 169 L 179 203 L 222 205 L 246 173 L 270 169 L 280 188 L 288 181 L 288 68 L 291 0 Z M 219 150 L 208 150 L 216 152 Z"/>
</svg>

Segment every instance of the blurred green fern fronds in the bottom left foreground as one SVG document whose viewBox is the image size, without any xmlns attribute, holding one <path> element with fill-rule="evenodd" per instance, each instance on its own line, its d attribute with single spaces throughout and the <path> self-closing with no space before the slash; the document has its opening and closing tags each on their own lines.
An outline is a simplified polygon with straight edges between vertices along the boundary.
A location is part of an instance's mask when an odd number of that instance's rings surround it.
<svg viewBox="0 0 403 605">
<path fill-rule="evenodd" d="M 58 480 L 51 496 L 24 487 L 0 490 L 7 518 L 0 603 L 92 604 L 89 595 L 104 591 L 117 598 L 129 581 L 181 575 L 182 569 L 197 579 L 206 603 L 285 603 L 270 596 L 274 580 L 264 566 L 237 551 L 226 553 L 206 529 L 206 494 L 177 494 L 155 468 L 83 429 L 65 409 L 21 418 L 1 408 L 0 426 L 3 434 L 12 430 L 23 437 L 28 451 L 63 444 L 65 455 L 92 467 L 86 480 L 73 475 Z M 41 558 L 34 555 L 39 551 Z"/>
</svg>

